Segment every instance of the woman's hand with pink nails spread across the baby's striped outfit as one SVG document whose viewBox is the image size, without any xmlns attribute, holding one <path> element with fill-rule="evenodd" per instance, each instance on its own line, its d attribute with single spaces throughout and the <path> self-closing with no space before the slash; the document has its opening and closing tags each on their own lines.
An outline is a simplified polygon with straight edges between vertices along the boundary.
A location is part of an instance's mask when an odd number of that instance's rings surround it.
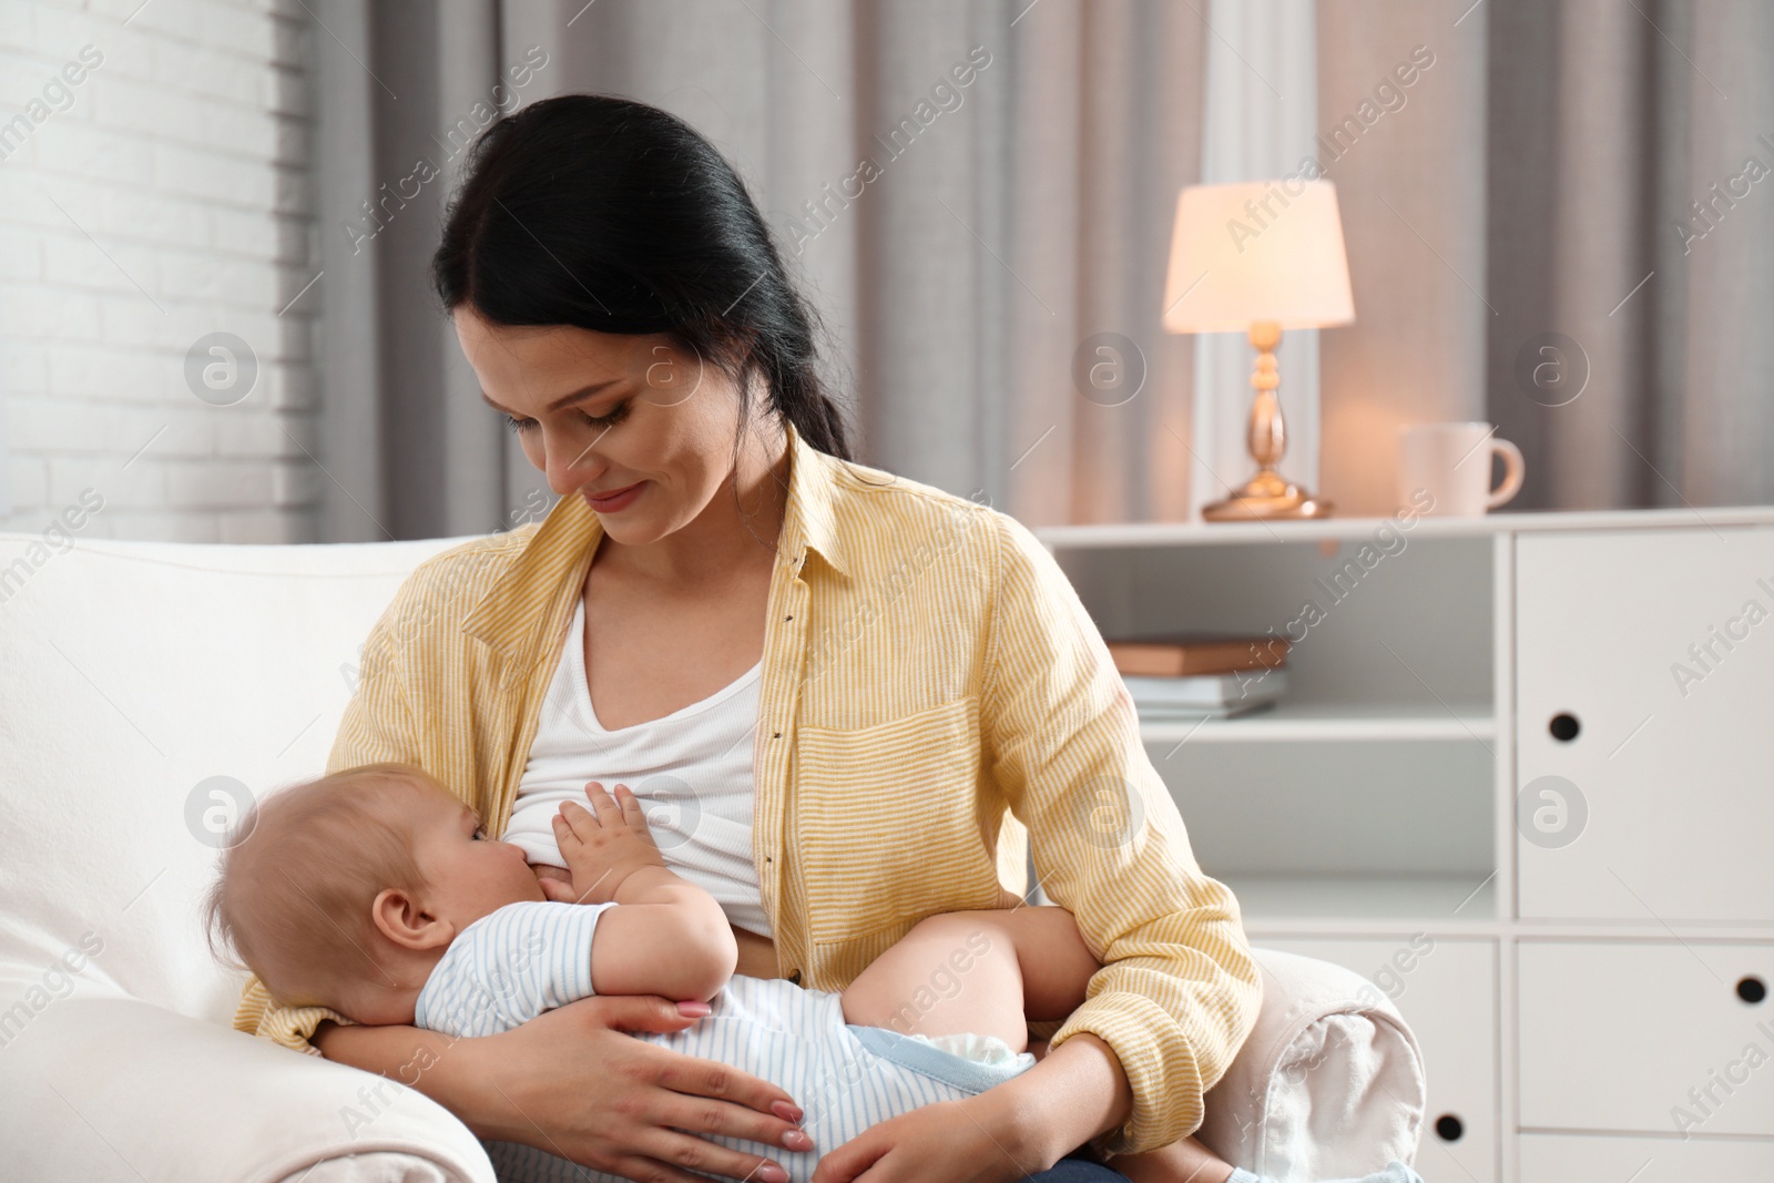
<svg viewBox="0 0 1774 1183">
<path fill-rule="evenodd" d="M 475 1055 L 486 1082 L 484 1107 L 468 1124 L 483 1139 L 523 1142 L 630 1179 L 706 1183 L 688 1174 L 694 1169 L 786 1183 L 777 1162 L 701 1135 L 812 1149 L 788 1093 L 727 1064 L 623 1034 L 683 1030 L 694 1022 L 655 995 L 612 995 L 465 1041 L 483 1045 Z"/>
</svg>

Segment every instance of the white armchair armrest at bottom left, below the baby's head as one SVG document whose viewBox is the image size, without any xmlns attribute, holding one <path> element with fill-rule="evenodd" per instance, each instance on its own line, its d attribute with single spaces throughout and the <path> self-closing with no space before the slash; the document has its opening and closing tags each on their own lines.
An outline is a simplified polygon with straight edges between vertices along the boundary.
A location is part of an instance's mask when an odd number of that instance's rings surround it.
<svg viewBox="0 0 1774 1183">
<path fill-rule="evenodd" d="M 422 1093 L 149 1002 L 14 1007 L 0 1043 L 0 1178 L 495 1183 Z"/>
</svg>

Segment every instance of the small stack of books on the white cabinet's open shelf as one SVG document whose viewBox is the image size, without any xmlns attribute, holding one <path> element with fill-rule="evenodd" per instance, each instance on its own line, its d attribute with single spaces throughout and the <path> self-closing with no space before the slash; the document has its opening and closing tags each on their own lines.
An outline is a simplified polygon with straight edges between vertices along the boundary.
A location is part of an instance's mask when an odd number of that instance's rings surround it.
<svg viewBox="0 0 1774 1183">
<path fill-rule="evenodd" d="M 1288 642 L 1279 637 L 1135 637 L 1111 640 L 1142 724 L 1233 718 L 1288 690 Z"/>
</svg>

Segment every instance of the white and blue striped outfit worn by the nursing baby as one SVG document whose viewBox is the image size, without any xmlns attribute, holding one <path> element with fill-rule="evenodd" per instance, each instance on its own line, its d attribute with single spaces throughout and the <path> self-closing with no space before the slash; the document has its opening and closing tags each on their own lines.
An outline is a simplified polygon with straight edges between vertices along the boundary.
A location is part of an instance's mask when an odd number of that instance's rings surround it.
<svg viewBox="0 0 1774 1183">
<path fill-rule="evenodd" d="M 598 917 L 617 905 L 514 903 L 461 931 L 419 991 L 415 1025 L 456 1038 L 490 1036 L 543 1011 L 589 999 L 591 940 Z M 985 1093 L 1034 1066 L 990 1038 L 931 1041 L 844 1022 L 843 999 L 782 979 L 734 975 L 710 1000 L 711 1015 L 674 1034 L 635 1032 L 720 1061 L 781 1085 L 805 1110 L 811 1151 L 711 1140 L 763 1153 L 805 1183 L 820 1155 L 899 1114 Z M 995 1045 L 995 1046 L 993 1046 Z M 974 1048 L 976 1059 L 946 1046 Z M 502 1183 L 623 1183 L 516 1142 L 486 1142 Z M 713 1176 L 711 1176 L 713 1178 Z"/>
</svg>

